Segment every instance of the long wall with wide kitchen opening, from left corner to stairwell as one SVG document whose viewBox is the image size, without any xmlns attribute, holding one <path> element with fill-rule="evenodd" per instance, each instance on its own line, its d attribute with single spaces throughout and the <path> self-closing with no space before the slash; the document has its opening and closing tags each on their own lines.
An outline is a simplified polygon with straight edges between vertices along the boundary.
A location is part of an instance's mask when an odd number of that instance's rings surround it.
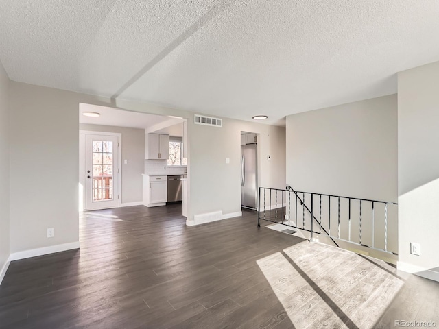
<svg viewBox="0 0 439 329">
<path fill-rule="evenodd" d="M 261 163 L 261 184 L 285 184 L 284 128 L 226 120 L 224 128 L 215 131 L 195 126 L 191 112 L 19 82 L 11 82 L 10 90 L 12 253 L 79 240 L 79 103 L 189 119 L 189 218 L 215 210 L 224 214 L 241 210 L 241 130 L 260 133 L 261 154 L 272 153 L 272 162 Z M 228 167 L 226 156 L 231 162 Z M 51 239 L 46 237 L 49 227 L 55 228 Z"/>
</svg>

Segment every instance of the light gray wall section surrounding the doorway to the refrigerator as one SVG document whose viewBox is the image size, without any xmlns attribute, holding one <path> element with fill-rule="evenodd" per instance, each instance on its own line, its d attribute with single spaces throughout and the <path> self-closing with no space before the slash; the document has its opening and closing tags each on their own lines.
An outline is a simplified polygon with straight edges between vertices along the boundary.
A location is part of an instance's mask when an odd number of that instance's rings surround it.
<svg viewBox="0 0 439 329">
<path fill-rule="evenodd" d="M 210 127 L 188 120 L 189 220 L 219 210 L 223 215 L 241 212 L 241 131 L 259 134 L 260 186 L 285 188 L 285 127 L 226 118 L 222 122 L 222 127 Z"/>
</svg>

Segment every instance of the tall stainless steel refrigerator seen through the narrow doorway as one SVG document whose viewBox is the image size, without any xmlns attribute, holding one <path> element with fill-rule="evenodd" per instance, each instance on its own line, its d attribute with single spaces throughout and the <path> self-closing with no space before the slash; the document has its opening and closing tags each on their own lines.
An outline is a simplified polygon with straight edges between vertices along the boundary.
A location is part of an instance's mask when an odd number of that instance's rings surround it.
<svg viewBox="0 0 439 329">
<path fill-rule="evenodd" d="M 257 206 L 257 144 L 241 145 L 241 205 Z"/>
</svg>

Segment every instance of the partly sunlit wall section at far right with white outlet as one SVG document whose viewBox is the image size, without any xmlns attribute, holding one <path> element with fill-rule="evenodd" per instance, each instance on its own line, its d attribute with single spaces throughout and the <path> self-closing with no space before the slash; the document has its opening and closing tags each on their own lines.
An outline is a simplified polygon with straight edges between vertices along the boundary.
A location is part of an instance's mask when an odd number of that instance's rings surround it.
<svg viewBox="0 0 439 329">
<path fill-rule="evenodd" d="M 398 74 L 401 269 L 439 267 L 438 86 L 439 62 Z M 420 256 L 410 254 L 411 242 L 420 243 Z"/>
</svg>

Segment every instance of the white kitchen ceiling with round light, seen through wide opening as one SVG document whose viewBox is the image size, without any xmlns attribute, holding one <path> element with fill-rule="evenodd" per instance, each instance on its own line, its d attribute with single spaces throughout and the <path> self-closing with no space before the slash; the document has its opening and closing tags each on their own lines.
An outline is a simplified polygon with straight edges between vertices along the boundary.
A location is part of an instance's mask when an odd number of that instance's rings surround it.
<svg viewBox="0 0 439 329">
<path fill-rule="evenodd" d="M 84 112 L 97 112 L 99 117 L 86 117 Z M 92 125 L 111 125 L 115 127 L 130 127 L 144 129 L 146 132 L 157 134 L 168 134 L 170 136 L 183 136 L 183 121 L 176 117 L 165 117 L 161 115 L 145 114 L 118 110 L 107 106 L 97 106 L 80 103 L 80 123 Z"/>
</svg>

